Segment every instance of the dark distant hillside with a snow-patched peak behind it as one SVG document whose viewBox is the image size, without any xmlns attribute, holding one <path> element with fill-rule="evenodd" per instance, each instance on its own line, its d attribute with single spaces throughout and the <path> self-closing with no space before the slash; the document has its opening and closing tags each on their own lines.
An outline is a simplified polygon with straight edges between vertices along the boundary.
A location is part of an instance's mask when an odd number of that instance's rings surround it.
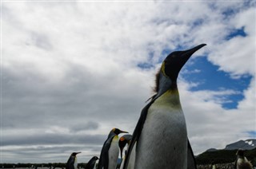
<svg viewBox="0 0 256 169">
<path fill-rule="evenodd" d="M 254 166 L 256 166 L 256 140 L 240 140 L 230 143 L 222 150 L 210 148 L 196 157 L 198 164 L 208 163 L 233 163 L 235 161 L 236 152 L 239 148 L 246 150 L 245 155 Z"/>
</svg>

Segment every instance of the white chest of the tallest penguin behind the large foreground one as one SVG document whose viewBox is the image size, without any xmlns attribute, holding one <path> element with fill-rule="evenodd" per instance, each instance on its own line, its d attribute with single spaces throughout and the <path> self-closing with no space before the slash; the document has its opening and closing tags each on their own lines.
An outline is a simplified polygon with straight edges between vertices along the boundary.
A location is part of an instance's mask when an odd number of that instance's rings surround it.
<svg viewBox="0 0 256 169">
<path fill-rule="evenodd" d="M 114 136 L 109 149 L 109 169 L 116 168 L 118 164 L 118 136 Z"/>
</svg>

